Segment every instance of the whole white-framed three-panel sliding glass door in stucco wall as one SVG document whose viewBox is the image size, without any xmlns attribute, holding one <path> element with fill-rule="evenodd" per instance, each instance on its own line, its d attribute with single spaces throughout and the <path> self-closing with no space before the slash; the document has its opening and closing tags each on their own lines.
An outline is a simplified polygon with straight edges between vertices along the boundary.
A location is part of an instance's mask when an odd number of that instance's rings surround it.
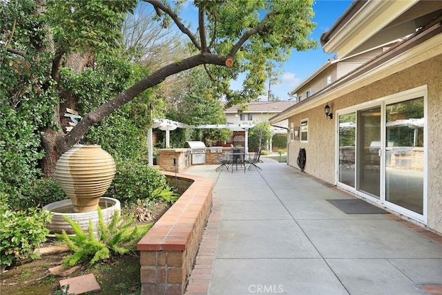
<svg viewBox="0 0 442 295">
<path fill-rule="evenodd" d="M 338 112 L 338 184 L 425 220 L 426 88 Z"/>
</svg>

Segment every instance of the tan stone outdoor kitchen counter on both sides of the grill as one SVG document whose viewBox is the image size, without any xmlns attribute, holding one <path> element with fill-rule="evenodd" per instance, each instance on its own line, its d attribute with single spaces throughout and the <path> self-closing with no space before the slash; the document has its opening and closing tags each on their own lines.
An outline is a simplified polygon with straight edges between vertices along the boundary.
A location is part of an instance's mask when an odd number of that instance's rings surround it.
<svg viewBox="0 0 442 295">
<path fill-rule="evenodd" d="M 229 153 L 233 150 L 231 147 L 209 146 L 206 148 L 206 164 L 219 164 L 216 158 L 216 151 Z M 157 165 L 164 171 L 182 173 L 192 165 L 191 149 L 158 149 Z M 176 159 L 176 166 L 173 165 L 173 159 Z"/>
</svg>

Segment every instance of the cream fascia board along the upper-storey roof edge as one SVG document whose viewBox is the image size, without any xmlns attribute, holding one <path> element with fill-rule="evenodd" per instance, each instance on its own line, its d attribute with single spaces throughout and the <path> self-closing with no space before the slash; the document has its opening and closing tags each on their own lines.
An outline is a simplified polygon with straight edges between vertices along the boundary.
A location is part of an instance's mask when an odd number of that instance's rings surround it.
<svg viewBox="0 0 442 295">
<path fill-rule="evenodd" d="M 323 45 L 325 53 L 346 57 L 419 0 L 369 0 Z"/>
</svg>

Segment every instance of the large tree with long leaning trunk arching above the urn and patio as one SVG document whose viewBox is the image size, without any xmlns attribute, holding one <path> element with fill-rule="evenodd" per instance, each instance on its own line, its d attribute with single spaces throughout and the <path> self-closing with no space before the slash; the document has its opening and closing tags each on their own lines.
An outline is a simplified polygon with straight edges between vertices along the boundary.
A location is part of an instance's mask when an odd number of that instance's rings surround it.
<svg viewBox="0 0 442 295">
<path fill-rule="evenodd" d="M 187 38 L 191 56 L 155 67 L 152 73 L 142 77 L 132 86 L 121 91 L 104 104 L 84 114 L 81 121 L 68 133 L 63 131 L 68 120 L 63 120 L 67 108 L 76 108 L 79 97 L 66 91 L 60 84 L 62 68 L 81 72 L 93 68 L 97 53 L 115 53 L 117 40 L 121 39 L 124 15 L 135 9 L 135 0 L 71 0 L 71 1 L 3 1 L 3 10 L 9 11 L 1 28 L 3 41 L 1 66 L 10 70 L 27 70 L 42 66 L 41 75 L 23 79 L 17 91 L 9 93 L 14 106 L 20 95 L 46 93 L 52 97 L 58 93 L 61 99 L 46 99 L 52 104 L 55 116 L 51 124 L 41 128 L 44 160 L 42 168 L 46 176 L 53 175 L 55 162 L 81 137 L 106 116 L 131 102 L 148 88 L 164 82 L 166 77 L 184 70 L 204 65 L 214 82 L 214 88 L 232 103 L 256 99 L 263 93 L 267 81 L 265 65 L 269 59 L 283 61 L 291 50 L 308 50 L 316 46 L 307 39 L 314 23 L 311 22 L 312 0 L 195 0 L 198 11 L 198 28 L 191 31 L 180 12 L 180 3 L 171 6 L 169 1 L 146 0 L 155 10 L 155 20 L 164 28 L 176 26 Z M 19 6 L 32 15 L 23 14 Z M 35 5 L 35 6 L 34 6 Z M 16 13 L 17 12 L 17 13 Z M 14 59 L 17 55 L 20 59 Z M 186 55 L 187 56 L 187 55 Z M 44 65 L 48 65 L 44 68 Z M 239 73 L 247 73 L 242 91 L 230 91 L 229 81 Z M 41 79 L 41 77 L 44 79 Z M 11 82 L 11 84 L 13 84 Z"/>
</svg>

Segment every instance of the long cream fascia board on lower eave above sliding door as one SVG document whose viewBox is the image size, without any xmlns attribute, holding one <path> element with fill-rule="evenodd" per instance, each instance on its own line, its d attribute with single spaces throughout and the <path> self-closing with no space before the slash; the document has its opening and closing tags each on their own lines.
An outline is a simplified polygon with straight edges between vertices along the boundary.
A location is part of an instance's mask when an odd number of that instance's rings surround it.
<svg viewBox="0 0 442 295">
<path fill-rule="evenodd" d="M 332 100 L 346 95 L 347 93 L 356 91 L 359 88 L 363 88 L 380 79 L 394 75 L 394 73 L 398 73 L 401 70 L 410 68 L 411 66 L 438 55 L 442 55 L 442 33 L 432 37 L 431 39 L 423 41 L 421 44 L 414 46 L 401 55 L 397 55 L 396 57 L 385 61 L 385 63 L 373 68 L 372 70 L 367 70 L 358 77 L 354 77 L 349 79 L 347 82 L 343 82 L 338 87 L 330 91 L 325 89 L 323 94 L 318 94 L 318 97 L 314 97 L 314 99 L 305 100 L 300 106 L 295 104 L 291 108 L 288 108 L 287 111 L 271 117 L 269 122 L 270 124 L 276 124 L 277 122 L 286 120 L 298 113 L 325 105 L 327 102 L 332 102 Z"/>
</svg>

